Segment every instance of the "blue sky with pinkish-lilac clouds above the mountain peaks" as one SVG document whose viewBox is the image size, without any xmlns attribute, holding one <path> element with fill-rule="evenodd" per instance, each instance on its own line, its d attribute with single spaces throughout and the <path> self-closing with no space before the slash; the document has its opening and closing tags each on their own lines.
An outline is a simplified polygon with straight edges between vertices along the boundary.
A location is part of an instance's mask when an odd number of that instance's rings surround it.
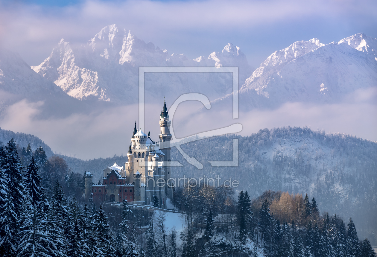
<svg viewBox="0 0 377 257">
<path fill-rule="evenodd" d="M 86 43 L 117 24 L 193 59 L 233 43 L 256 68 L 294 41 L 328 44 L 359 32 L 376 38 L 376 17 L 373 0 L 0 1 L 0 46 L 38 65 L 61 38 Z"/>
</svg>

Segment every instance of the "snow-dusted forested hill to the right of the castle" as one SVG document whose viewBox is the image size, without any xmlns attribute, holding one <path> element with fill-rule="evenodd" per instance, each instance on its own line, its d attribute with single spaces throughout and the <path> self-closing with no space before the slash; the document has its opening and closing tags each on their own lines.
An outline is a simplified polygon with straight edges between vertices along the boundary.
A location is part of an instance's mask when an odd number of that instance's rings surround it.
<svg viewBox="0 0 377 257">
<path fill-rule="evenodd" d="M 208 161 L 232 161 L 239 140 L 238 167 L 211 167 Z M 257 197 L 265 190 L 308 193 L 330 214 L 352 217 L 360 233 L 375 240 L 377 231 L 377 144 L 355 136 L 286 127 L 263 129 L 251 136 L 216 136 L 181 145 L 203 164 L 198 170 L 172 148 L 174 177 L 238 180 Z M 375 241 L 374 241 L 375 242 Z"/>
</svg>

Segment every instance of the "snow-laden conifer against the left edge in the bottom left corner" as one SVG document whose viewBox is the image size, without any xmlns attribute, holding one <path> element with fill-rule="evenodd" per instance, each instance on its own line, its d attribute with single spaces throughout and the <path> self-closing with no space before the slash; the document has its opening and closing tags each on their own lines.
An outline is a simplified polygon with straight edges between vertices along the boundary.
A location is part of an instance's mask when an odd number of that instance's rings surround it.
<svg viewBox="0 0 377 257">
<path fill-rule="evenodd" d="M 18 217 L 10 190 L 6 192 L 6 196 L 5 205 L 2 208 L 3 212 L 1 213 L 0 219 L 0 254 L 2 256 L 13 256 L 19 242 Z"/>
</svg>

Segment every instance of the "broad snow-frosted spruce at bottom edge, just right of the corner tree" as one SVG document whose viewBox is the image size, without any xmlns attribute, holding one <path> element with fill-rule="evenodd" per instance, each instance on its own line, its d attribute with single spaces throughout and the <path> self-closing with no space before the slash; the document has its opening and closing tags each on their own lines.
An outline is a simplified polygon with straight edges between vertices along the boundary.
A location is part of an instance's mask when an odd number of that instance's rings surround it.
<svg viewBox="0 0 377 257">
<path fill-rule="evenodd" d="M 17 249 L 18 257 L 54 256 L 48 249 L 49 238 L 46 234 L 46 229 L 38 219 L 35 209 L 33 209 L 32 215 L 25 220 L 20 229 L 20 242 Z"/>
</svg>

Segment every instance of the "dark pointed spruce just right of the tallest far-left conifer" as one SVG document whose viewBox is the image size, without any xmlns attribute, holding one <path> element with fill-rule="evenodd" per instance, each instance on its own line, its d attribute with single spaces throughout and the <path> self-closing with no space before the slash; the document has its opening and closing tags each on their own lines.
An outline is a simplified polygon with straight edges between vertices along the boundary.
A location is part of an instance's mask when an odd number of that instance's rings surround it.
<svg viewBox="0 0 377 257">
<path fill-rule="evenodd" d="M 28 169 L 25 173 L 25 186 L 27 194 L 31 199 L 33 207 L 36 207 L 39 202 L 44 201 L 44 188 L 41 185 L 41 178 L 39 176 L 38 165 L 32 157 Z"/>
</svg>

